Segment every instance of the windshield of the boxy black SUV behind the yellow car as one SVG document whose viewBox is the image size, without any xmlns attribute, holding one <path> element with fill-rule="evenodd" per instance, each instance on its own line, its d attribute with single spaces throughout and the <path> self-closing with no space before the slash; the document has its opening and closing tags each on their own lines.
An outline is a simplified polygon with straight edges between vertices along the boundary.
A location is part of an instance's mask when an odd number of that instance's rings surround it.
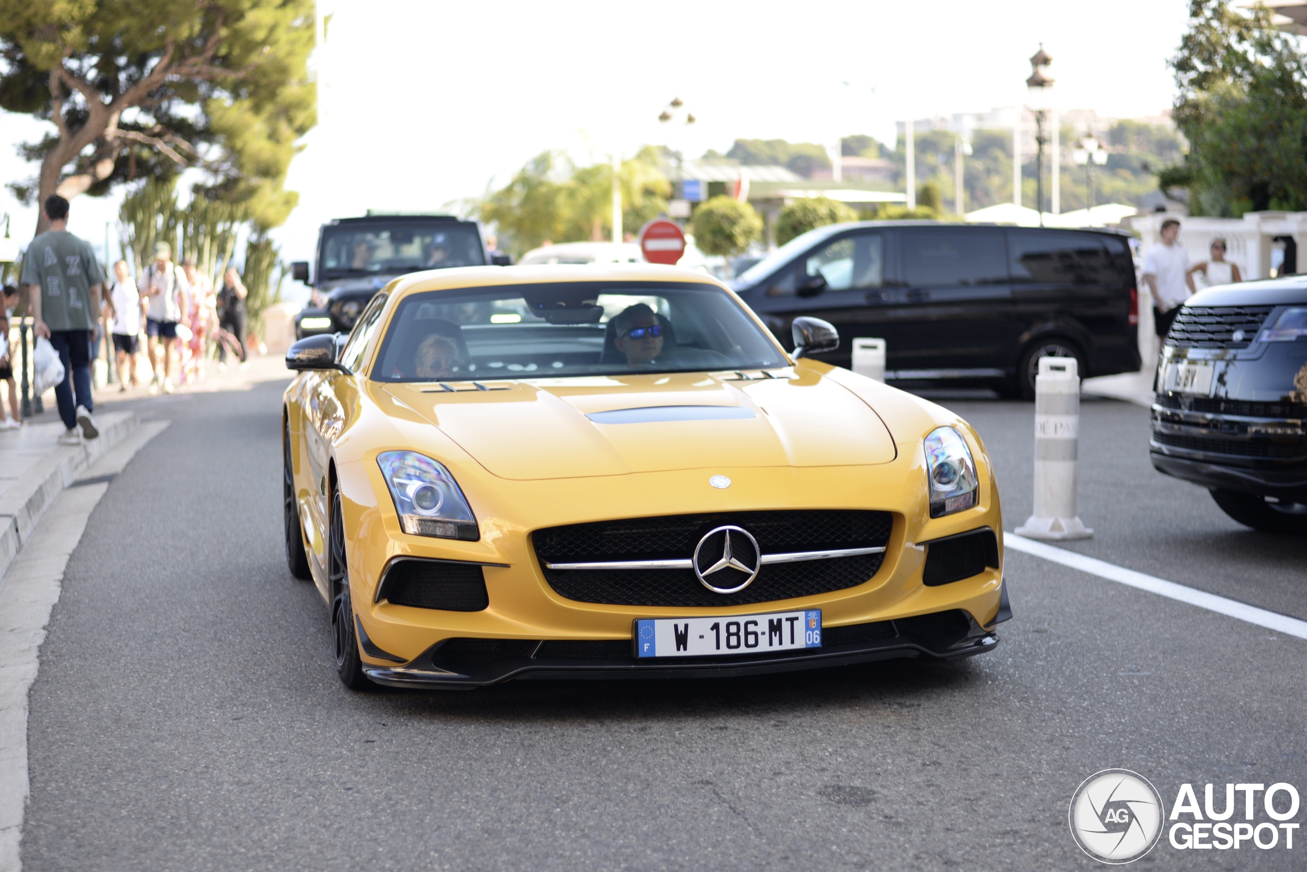
<svg viewBox="0 0 1307 872">
<path fill-rule="evenodd" d="M 323 275 L 484 266 L 481 235 L 455 222 L 379 221 L 323 228 Z"/>
</svg>

